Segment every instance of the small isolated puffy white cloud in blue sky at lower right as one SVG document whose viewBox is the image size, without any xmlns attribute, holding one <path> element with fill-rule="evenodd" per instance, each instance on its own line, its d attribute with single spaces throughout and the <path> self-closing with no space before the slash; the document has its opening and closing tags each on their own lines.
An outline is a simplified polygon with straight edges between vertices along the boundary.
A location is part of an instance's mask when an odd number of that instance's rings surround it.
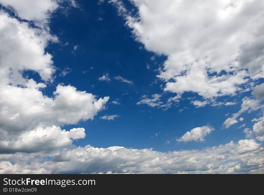
<svg viewBox="0 0 264 195">
<path fill-rule="evenodd" d="M 202 126 L 193 128 L 190 131 L 187 131 L 182 137 L 176 139 L 178 142 L 188 142 L 188 141 L 204 141 L 204 137 L 213 131 L 214 128 L 210 126 Z"/>
</svg>

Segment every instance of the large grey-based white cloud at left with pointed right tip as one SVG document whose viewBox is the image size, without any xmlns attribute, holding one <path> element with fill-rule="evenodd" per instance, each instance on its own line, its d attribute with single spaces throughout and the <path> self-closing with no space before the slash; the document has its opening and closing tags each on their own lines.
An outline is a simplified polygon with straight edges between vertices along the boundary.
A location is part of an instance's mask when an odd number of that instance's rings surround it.
<svg viewBox="0 0 264 195">
<path fill-rule="evenodd" d="M 62 85 L 58 85 L 54 98 L 44 96 L 37 88 L 9 85 L 1 87 L 0 94 L 1 152 L 70 147 L 70 138 L 83 138 L 84 129 L 65 132 L 58 125 L 93 119 L 109 99 L 97 100 L 91 93 Z"/>
</svg>

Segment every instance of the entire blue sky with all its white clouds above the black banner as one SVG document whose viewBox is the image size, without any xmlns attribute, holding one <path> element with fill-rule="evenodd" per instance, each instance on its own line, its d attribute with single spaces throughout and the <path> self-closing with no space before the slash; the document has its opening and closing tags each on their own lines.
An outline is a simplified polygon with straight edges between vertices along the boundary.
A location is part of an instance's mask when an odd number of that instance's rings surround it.
<svg viewBox="0 0 264 195">
<path fill-rule="evenodd" d="M 264 173 L 261 0 L 0 0 L 0 173 Z"/>
</svg>

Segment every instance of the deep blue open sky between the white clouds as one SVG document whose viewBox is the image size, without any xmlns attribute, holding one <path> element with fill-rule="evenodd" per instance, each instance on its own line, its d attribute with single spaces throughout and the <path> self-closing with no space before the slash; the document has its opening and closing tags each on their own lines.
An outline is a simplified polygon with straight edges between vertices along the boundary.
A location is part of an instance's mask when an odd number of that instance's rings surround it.
<svg viewBox="0 0 264 195">
<path fill-rule="evenodd" d="M 143 95 L 163 93 L 160 85 L 164 82 L 156 75 L 166 56 L 140 49 L 144 47 L 143 44 L 134 40 L 131 29 L 124 25 L 125 20 L 117 14 L 116 8 L 111 4 L 98 4 L 96 1 L 81 4 L 82 10 L 72 8 L 67 16 L 58 14 L 51 21 L 51 31 L 61 34 L 62 44 L 66 42 L 69 44 L 67 46 L 54 44 L 47 48 L 49 53 L 55 54 L 53 61 L 57 67 L 71 70 L 67 75 L 55 79 L 53 86 L 50 87 L 50 93 L 59 83 L 64 83 L 75 86 L 78 90 L 92 92 L 99 97 L 110 96 L 106 110 L 101 111 L 92 121 L 80 122 L 80 126 L 88 131 L 84 139 L 76 141 L 77 145 L 84 146 L 89 143 L 96 147 L 117 145 L 173 151 L 201 149 L 225 143 L 227 140 L 238 141 L 244 137 L 244 133 L 235 129 L 235 126 L 227 130 L 221 129 L 225 114 L 238 111 L 239 104 L 228 108 L 226 106 L 195 108 L 187 98 L 196 97 L 197 94 L 187 93 L 179 104 L 174 104 L 166 111 L 148 105 L 136 105 Z M 74 51 L 75 54 L 72 54 L 75 45 L 78 47 Z M 155 60 L 151 59 L 153 56 Z M 98 78 L 106 73 L 109 74 L 111 81 L 99 81 Z M 116 81 L 113 77 L 117 75 L 133 81 L 134 84 Z M 162 99 L 166 101 L 172 96 L 173 93 L 164 93 Z M 116 99 L 120 105 L 111 104 Z M 232 100 L 241 101 L 241 97 L 231 97 L 230 101 Z M 187 109 L 179 112 L 184 107 Z M 120 117 L 114 121 L 100 120 L 100 116 L 105 114 L 118 114 Z M 247 123 L 252 126 L 250 118 Z M 175 137 L 180 137 L 196 126 L 207 124 L 214 126 L 216 131 L 206 137 L 206 142 L 188 144 L 176 142 Z M 236 126 L 241 124 L 242 122 Z M 70 129 L 73 126 L 64 128 Z M 166 144 L 167 140 L 171 143 Z"/>
</svg>

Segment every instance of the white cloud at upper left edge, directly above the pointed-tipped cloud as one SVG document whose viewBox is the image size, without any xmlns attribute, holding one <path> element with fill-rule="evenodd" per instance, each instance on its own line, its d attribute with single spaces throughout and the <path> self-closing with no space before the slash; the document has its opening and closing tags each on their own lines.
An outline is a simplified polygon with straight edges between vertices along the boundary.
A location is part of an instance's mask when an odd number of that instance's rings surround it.
<svg viewBox="0 0 264 195">
<path fill-rule="evenodd" d="M 1 83 L 25 82 L 19 71 L 34 70 L 44 81 L 55 72 L 52 56 L 45 52 L 48 41 L 57 41 L 46 31 L 30 28 L 0 11 L 0 76 Z"/>
</svg>

